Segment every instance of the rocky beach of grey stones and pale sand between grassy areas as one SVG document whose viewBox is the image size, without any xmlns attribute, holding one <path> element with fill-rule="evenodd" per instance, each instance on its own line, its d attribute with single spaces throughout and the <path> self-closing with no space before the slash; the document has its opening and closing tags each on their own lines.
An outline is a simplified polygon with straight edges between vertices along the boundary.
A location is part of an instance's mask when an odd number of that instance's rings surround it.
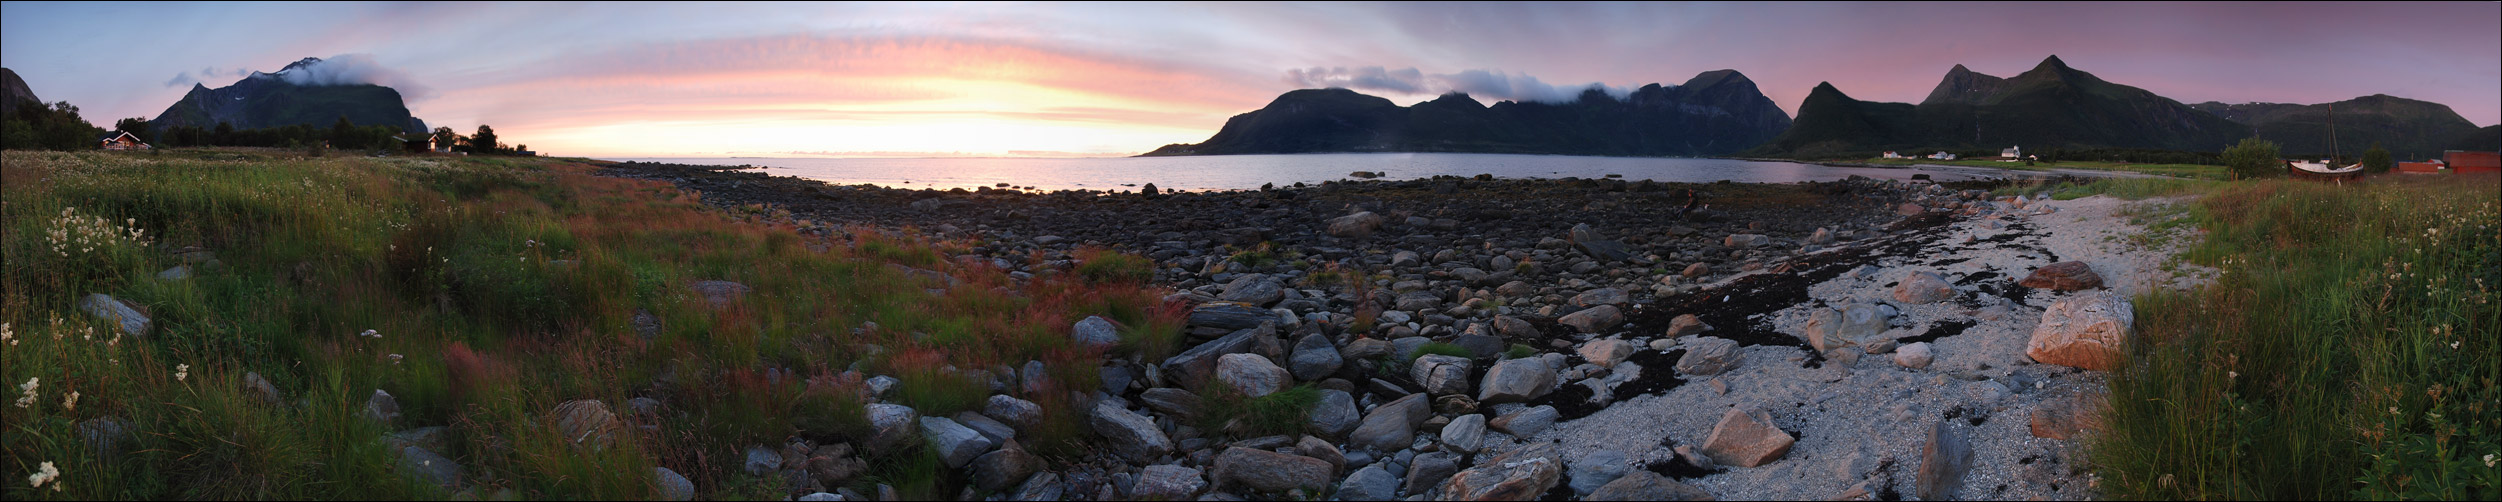
<svg viewBox="0 0 2502 502">
<path fill-rule="evenodd" d="M 1086 397 L 1101 455 L 1043 465 L 1003 447 L 1013 430 L 921 420 L 1001 500 L 2084 500 L 2077 440 L 2127 295 L 2202 277 L 2162 265 L 2177 242 L 2132 240 L 2132 215 L 2174 200 L 1982 182 L 938 192 L 600 175 L 803 232 L 951 240 L 968 250 L 956 267 L 1011 277 L 1068 272 L 1081 247 L 1153 260 L 1166 300 L 1193 305 L 1188 342 L 1103 362 Z M 1073 337 L 1101 332 L 1088 322 Z M 1321 400 L 1304 435 L 1236 437 L 1178 420 L 1193 385 Z M 991 402 L 956 422 L 1031 407 Z M 916 430 L 883 407 L 881 432 Z"/>
</svg>

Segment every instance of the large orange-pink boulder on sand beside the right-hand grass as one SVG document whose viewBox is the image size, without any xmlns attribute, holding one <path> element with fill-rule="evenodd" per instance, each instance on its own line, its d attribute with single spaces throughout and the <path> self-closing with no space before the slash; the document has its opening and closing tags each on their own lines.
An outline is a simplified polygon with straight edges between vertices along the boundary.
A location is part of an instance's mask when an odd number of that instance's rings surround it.
<svg viewBox="0 0 2502 502">
<path fill-rule="evenodd" d="M 2044 365 L 2109 372 L 2137 330 L 2137 315 L 2119 292 L 2062 297 L 2042 310 L 2024 355 Z"/>
</svg>

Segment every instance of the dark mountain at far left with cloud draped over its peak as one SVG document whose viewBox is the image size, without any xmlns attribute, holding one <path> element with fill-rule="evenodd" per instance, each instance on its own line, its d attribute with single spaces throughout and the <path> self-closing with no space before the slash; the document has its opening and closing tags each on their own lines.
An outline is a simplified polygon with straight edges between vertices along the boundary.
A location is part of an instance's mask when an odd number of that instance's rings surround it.
<svg viewBox="0 0 2502 502">
<path fill-rule="evenodd" d="M 278 72 L 253 72 L 233 85 L 210 90 L 190 85 L 183 100 L 158 112 L 148 125 L 155 130 L 198 125 L 218 127 L 228 122 L 238 130 L 313 125 L 328 127 L 338 117 L 355 125 L 393 125 L 400 132 L 425 130 L 425 120 L 408 115 L 400 92 L 383 85 L 295 85 L 290 72 L 310 72 L 320 57 L 295 60 Z"/>
</svg>

